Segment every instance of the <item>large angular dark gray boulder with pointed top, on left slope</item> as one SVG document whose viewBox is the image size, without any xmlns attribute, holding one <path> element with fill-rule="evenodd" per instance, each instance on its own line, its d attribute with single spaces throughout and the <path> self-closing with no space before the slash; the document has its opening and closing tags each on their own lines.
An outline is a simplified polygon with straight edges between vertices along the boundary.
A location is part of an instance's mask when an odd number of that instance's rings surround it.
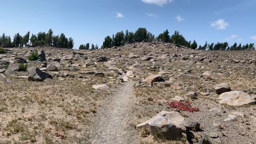
<svg viewBox="0 0 256 144">
<path fill-rule="evenodd" d="M 32 68 L 28 72 L 28 81 L 38 81 L 42 82 L 46 78 L 53 78 L 50 74 L 47 72 L 43 72 L 39 68 Z"/>
</svg>

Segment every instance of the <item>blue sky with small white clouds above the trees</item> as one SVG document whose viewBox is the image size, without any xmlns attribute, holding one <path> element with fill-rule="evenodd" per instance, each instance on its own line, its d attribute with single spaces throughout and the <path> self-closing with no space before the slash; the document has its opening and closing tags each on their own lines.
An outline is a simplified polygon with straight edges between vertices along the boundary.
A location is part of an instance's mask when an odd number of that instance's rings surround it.
<svg viewBox="0 0 256 144">
<path fill-rule="evenodd" d="M 102 45 L 121 30 L 146 27 L 156 36 L 168 29 L 198 45 L 256 43 L 256 0 L 0 0 L 0 34 L 30 31 L 72 37 L 75 48 Z"/>
</svg>

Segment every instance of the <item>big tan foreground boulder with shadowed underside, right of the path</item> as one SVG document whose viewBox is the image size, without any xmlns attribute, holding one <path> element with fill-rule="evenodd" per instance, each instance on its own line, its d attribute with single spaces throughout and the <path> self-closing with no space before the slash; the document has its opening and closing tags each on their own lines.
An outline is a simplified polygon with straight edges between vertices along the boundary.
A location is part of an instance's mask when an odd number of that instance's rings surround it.
<svg viewBox="0 0 256 144">
<path fill-rule="evenodd" d="M 185 132 L 184 118 L 178 112 L 162 111 L 156 116 L 138 124 L 138 130 L 146 129 L 152 134 L 159 134 L 170 139 L 182 138 L 182 133 Z"/>
</svg>

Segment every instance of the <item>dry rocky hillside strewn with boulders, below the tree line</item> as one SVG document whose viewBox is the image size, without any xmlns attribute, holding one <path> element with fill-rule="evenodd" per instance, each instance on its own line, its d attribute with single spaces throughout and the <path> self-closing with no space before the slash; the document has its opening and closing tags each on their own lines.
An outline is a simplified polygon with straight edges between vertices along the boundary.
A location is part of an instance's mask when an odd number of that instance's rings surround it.
<svg viewBox="0 0 256 144">
<path fill-rule="evenodd" d="M 161 42 L 8 49 L 0 143 L 253 144 L 255 58 Z"/>
</svg>

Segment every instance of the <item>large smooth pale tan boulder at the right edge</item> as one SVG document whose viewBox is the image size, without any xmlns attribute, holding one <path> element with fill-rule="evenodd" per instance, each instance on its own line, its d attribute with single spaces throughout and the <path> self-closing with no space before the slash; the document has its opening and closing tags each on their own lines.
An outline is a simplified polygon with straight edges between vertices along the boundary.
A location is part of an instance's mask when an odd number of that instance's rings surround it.
<svg viewBox="0 0 256 144">
<path fill-rule="evenodd" d="M 242 91 L 232 91 L 220 94 L 220 104 L 227 104 L 230 106 L 243 106 L 244 104 L 254 103 L 255 100 L 249 94 Z"/>
</svg>

